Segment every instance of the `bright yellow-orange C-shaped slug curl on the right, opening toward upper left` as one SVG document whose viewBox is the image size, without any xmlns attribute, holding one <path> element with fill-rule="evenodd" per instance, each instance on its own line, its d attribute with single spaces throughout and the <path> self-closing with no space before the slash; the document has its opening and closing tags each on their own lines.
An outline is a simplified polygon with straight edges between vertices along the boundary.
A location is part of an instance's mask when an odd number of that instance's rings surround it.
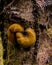
<svg viewBox="0 0 52 65">
<path fill-rule="evenodd" d="M 31 28 L 27 28 L 25 32 L 27 35 L 16 33 L 16 38 L 19 44 L 23 45 L 24 47 L 30 47 L 36 42 L 36 33 Z"/>
</svg>

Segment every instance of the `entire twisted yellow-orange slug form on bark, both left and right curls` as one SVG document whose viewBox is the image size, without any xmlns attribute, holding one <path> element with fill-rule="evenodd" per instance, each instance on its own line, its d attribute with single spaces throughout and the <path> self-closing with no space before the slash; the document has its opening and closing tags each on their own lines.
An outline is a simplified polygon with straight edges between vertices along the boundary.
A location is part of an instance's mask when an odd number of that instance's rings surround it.
<svg viewBox="0 0 52 65">
<path fill-rule="evenodd" d="M 27 28 L 24 31 L 24 28 L 21 25 L 12 24 L 8 29 L 8 39 L 12 43 L 15 43 L 14 32 L 16 32 L 16 40 L 18 44 L 25 48 L 32 46 L 36 42 L 36 33 L 32 28 Z M 26 32 L 26 35 L 22 32 Z"/>
</svg>

